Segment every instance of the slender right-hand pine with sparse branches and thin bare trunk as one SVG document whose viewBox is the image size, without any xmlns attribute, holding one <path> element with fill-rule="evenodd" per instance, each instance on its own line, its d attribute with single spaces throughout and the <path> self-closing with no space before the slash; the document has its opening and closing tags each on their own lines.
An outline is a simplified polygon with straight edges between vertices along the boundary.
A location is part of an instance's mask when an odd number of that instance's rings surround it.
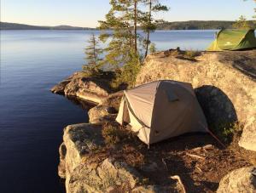
<svg viewBox="0 0 256 193">
<path fill-rule="evenodd" d="M 143 18 L 143 31 L 146 33 L 146 38 L 144 40 L 144 46 L 145 46 L 145 55 L 146 57 L 148 55 L 148 46 L 150 45 L 149 35 L 150 32 L 153 32 L 156 30 L 156 23 L 158 20 L 154 20 L 153 15 L 154 13 L 160 12 L 160 11 L 168 11 L 169 9 L 165 6 L 159 3 L 158 0 L 144 0 L 144 3 L 146 6 L 148 6 L 148 12 L 144 14 Z"/>
</svg>

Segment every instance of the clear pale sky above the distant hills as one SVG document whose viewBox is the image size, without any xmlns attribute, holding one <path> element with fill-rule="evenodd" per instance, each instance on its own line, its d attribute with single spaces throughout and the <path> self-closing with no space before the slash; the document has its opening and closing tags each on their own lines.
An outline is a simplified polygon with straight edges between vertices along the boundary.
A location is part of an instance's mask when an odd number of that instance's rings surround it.
<svg viewBox="0 0 256 193">
<path fill-rule="evenodd" d="M 0 0 L 1 21 L 38 26 L 97 26 L 110 8 L 108 0 Z M 242 14 L 251 20 L 253 0 L 160 0 L 171 10 L 159 19 L 236 20 Z"/>
</svg>

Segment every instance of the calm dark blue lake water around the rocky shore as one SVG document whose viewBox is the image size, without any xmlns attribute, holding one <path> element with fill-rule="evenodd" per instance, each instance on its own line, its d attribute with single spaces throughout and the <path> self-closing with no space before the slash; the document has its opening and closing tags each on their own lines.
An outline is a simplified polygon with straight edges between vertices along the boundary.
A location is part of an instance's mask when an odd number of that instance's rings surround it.
<svg viewBox="0 0 256 193">
<path fill-rule="evenodd" d="M 205 49 L 215 31 L 157 31 L 156 48 Z M 61 192 L 58 147 L 87 111 L 49 89 L 84 64 L 91 31 L 1 31 L 0 192 Z M 98 34 L 98 32 L 96 32 Z"/>
</svg>

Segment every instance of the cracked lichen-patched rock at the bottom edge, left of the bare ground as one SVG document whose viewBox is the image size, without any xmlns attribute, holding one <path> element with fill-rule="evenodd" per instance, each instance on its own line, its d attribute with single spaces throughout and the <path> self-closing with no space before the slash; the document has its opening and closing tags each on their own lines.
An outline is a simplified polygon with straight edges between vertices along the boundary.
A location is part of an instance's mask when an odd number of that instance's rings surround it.
<svg viewBox="0 0 256 193">
<path fill-rule="evenodd" d="M 132 190 L 141 179 L 139 173 L 124 162 L 105 159 L 102 163 L 83 163 L 73 171 L 67 192 L 107 192 L 107 190 Z M 110 189 L 111 188 L 111 189 Z"/>
</svg>

